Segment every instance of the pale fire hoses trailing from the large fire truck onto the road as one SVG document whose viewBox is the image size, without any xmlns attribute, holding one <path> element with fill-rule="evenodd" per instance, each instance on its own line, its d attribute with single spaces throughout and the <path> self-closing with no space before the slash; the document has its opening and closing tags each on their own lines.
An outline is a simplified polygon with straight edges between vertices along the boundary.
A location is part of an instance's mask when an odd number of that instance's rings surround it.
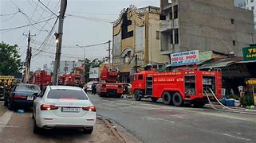
<svg viewBox="0 0 256 143">
<path fill-rule="evenodd" d="M 209 88 L 209 90 L 211 91 L 211 94 L 215 97 L 215 99 L 217 100 L 217 102 L 219 102 L 219 99 L 216 97 L 215 93 L 211 90 L 211 88 Z M 241 114 L 254 114 L 254 115 L 256 115 L 256 110 L 255 110 L 255 111 L 254 111 L 254 110 L 248 111 L 248 110 L 242 110 L 242 109 L 234 109 L 234 108 L 230 108 L 230 107 L 228 107 L 228 106 L 224 106 L 222 102 L 219 102 L 219 104 L 220 104 L 221 106 L 223 106 L 223 109 L 227 109 L 227 110 L 218 109 L 218 108 L 216 108 L 215 106 L 212 105 L 211 100 L 210 100 L 209 95 L 207 94 L 207 92 L 204 91 L 204 93 L 205 93 L 205 95 L 207 95 L 207 99 L 208 99 L 208 101 L 209 101 L 209 103 L 210 103 L 210 106 L 211 106 L 214 110 L 228 111 L 228 112 L 241 113 Z"/>
</svg>

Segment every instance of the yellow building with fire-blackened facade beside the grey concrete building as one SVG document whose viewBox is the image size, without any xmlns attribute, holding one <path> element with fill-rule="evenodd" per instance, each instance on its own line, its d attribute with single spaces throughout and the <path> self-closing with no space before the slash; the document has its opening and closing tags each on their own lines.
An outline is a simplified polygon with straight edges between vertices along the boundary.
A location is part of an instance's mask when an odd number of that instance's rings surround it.
<svg viewBox="0 0 256 143">
<path fill-rule="evenodd" d="M 132 67 L 165 64 L 167 56 L 160 54 L 160 8 L 130 6 L 121 11 L 113 25 L 112 61 L 128 82 Z"/>
</svg>

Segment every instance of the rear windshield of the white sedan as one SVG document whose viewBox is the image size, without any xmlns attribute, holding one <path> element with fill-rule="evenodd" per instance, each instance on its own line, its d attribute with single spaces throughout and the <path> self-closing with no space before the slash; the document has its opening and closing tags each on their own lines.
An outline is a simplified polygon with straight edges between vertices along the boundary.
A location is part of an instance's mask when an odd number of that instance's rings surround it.
<svg viewBox="0 0 256 143">
<path fill-rule="evenodd" d="M 55 89 L 49 91 L 48 99 L 81 99 L 87 100 L 87 96 L 83 91 Z"/>
</svg>

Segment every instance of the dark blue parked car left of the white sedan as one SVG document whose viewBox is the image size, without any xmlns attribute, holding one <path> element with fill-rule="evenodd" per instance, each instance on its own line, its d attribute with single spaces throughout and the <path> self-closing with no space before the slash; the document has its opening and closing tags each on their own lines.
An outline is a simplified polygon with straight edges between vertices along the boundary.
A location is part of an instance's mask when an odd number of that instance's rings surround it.
<svg viewBox="0 0 256 143">
<path fill-rule="evenodd" d="M 17 107 L 33 106 L 33 99 L 40 93 L 40 88 L 34 84 L 18 83 L 10 89 L 5 96 L 4 105 L 9 110 L 15 110 Z"/>
</svg>

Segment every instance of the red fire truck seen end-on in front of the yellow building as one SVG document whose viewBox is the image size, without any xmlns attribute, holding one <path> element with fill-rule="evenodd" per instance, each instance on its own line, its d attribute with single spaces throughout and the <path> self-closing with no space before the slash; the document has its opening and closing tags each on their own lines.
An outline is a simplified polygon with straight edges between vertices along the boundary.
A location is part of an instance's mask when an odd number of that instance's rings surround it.
<svg viewBox="0 0 256 143">
<path fill-rule="evenodd" d="M 100 73 L 100 82 L 97 93 L 100 97 L 114 95 L 118 98 L 124 93 L 124 83 L 117 83 L 118 72 L 104 67 Z"/>
</svg>

